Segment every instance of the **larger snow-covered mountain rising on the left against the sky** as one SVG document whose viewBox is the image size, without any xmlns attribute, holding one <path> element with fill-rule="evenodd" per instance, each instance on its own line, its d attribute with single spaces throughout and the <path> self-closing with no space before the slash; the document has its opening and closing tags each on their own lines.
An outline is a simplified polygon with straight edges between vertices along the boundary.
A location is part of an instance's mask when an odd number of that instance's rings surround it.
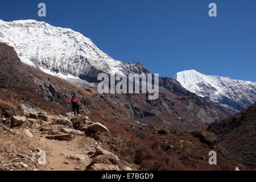
<svg viewBox="0 0 256 182">
<path fill-rule="evenodd" d="M 36 20 L 0 20 L 0 42 L 13 46 L 23 63 L 62 78 L 96 82 L 102 72 L 148 73 L 140 63 L 112 59 L 79 32 Z"/>
</svg>

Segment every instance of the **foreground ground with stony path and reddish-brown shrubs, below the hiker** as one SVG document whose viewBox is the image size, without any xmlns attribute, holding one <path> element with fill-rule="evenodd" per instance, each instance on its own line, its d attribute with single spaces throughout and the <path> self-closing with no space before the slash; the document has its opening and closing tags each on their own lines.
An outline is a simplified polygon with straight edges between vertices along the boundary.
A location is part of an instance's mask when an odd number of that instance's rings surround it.
<svg viewBox="0 0 256 182">
<path fill-rule="evenodd" d="M 0 104 L 0 171 L 234 170 L 239 166 L 216 146 L 216 135 L 209 131 L 121 127 L 90 111 L 73 117 L 48 114 L 29 102 L 15 108 L 11 98 L 1 98 Z M 217 165 L 208 163 L 213 148 L 219 156 Z"/>
</svg>

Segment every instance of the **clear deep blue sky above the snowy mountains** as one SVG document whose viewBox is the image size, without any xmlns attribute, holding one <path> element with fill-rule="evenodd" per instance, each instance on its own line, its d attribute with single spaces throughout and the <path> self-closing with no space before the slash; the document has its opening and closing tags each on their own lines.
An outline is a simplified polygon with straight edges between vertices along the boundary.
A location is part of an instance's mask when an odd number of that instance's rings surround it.
<svg viewBox="0 0 256 182">
<path fill-rule="evenodd" d="M 47 6 L 38 16 L 38 3 Z M 217 17 L 208 5 L 217 4 Z M 36 19 L 90 38 L 115 60 L 173 77 L 195 69 L 256 81 L 255 0 L 2 1 L 0 19 Z"/>
</svg>

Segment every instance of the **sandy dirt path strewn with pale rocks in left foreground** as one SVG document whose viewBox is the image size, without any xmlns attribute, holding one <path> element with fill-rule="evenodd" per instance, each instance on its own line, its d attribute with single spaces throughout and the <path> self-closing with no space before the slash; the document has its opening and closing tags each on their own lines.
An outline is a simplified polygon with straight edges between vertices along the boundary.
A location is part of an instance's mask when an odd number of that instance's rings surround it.
<svg viewBox="0 0 256 182">
<path fill-rule="evenodd" d="M 12 123 L 17 126 L 13 129 L 4 124 L 5 119 L 0 123 L 0 170 L 83 171 L 88 166 L 92 170 L 119 170 L 109 162 L 90 165 L 98 155 L 106 161 L 119 160 L 86 137 L 85 130 L 109 132 L 100 123 L 93 123 L 87 116 L 72 118 L 44 112 L 26 117 L 14 117 Z"/>
</svg>

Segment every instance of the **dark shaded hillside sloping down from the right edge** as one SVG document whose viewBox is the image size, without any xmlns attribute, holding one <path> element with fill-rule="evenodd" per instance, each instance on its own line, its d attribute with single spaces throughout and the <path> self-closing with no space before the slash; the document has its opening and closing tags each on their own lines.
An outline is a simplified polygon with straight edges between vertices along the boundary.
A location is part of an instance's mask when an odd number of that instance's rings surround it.
<svg viewBox="0 0 256 182">
<path fill-rule="evenodd" d="M 207 130 L 217 135 L 218 144 L 226 148 L 232 158 L 255 169 L 256 103 L 232 117 L 210 124 Z"/>
</svg>

